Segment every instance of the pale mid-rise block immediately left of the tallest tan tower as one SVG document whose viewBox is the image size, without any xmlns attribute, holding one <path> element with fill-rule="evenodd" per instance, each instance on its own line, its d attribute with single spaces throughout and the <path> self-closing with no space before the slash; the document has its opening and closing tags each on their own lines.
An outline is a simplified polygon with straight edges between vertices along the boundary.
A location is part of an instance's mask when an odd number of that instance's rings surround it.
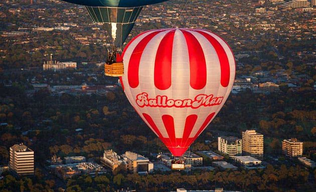
<svg viewBox="0 0 316 192">
<path fill-rule="evenodd" d="M 242 140 L 234 136 L 219 136 L 218 150 L 229 156 L 241 155 Z"/>
</svg>

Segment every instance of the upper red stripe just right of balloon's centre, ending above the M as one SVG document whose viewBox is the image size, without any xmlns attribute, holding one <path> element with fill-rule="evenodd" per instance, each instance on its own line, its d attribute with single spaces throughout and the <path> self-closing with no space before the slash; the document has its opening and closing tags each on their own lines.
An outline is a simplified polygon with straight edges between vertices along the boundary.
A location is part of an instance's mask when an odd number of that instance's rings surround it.
<svg viewBox="0 0 316 192">
<path fill-rule="evenodd" d="M 202 46 L 198 39 L 186 30 L 180 29 L 187 41 L 190 59 L 190 85 L 194 89 L 202 89 L 206 85 L 206 61 Z"/>
</svg>

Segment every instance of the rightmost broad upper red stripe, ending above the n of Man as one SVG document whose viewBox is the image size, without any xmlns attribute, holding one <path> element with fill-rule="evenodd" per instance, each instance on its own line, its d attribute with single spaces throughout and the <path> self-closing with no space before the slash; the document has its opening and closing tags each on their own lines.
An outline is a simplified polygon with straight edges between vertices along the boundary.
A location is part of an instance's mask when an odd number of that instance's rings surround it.
<svg viewBox="0 0 316 192">
<path fill-rule="evenodd" d="M 221 85 L 227 87 L 229 84 L 229 76 L 230 76 L 230 67 L 229 67 L 229 60 L 226 54 L 224 47 L 221 43 L 216 40 L 212 35 L 208 34 L 207 32 L 201 30 L 195 30 L 196 32 L 202 34 L 205 38 L 210 41 L 210 43 L 215 48 L 216 54 L 221 64 Z"/>
</svg>

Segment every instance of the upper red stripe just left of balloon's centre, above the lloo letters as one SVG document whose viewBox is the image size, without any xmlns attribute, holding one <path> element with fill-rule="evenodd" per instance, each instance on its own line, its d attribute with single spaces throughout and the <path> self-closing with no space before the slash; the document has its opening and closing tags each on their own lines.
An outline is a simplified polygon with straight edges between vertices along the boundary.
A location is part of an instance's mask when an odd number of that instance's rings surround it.
<svg viewBox="0 0 316 192">
<path fill-rule="evenodd" d="M 154 85 L 166 90 L 171 86 L 171 63 L 176 30 L 169 31 L 160 42 L 154 62 Z"/>
</svg>

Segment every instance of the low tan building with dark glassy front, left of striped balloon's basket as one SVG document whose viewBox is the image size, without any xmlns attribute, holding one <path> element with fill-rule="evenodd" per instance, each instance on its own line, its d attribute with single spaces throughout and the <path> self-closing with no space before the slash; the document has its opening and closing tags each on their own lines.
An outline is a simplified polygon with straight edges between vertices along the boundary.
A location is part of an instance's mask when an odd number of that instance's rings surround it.
<svg viewBox="0 0 316 192">
<path fill-rule="evenodd" d="M 126 163 L 127 169 L 131 172 L 148 173 L 153 171 L 153 163 L 140 154 L 126 151 L 121 156 Z"/>
</svg>

